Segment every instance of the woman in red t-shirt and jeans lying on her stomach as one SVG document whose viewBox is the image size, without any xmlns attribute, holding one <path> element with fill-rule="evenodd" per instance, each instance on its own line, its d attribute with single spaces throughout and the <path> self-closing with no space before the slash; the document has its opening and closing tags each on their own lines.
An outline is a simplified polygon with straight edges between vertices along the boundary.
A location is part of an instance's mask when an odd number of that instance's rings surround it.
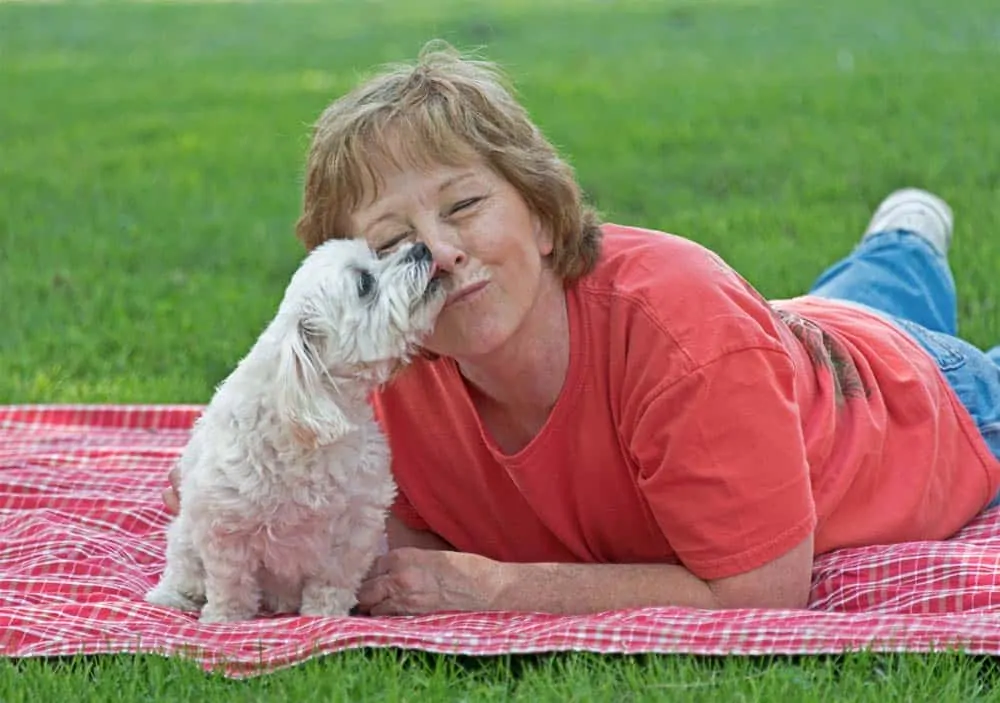
<svg viewBox="0 0 1000 703">
<path fill-rule="evenodd" d="M 450 295 L 374 398 L 400 493 L 360 609 L 801 608 L 817 554 L 953 534 L 1000 487 L 1000 349 L 954 337 L 951 231 L 900 191 L 769 303 L 600 225 L 494 66 L 430 46 L 365 82 L 316 125 L 298 236 L 423 242 Z"/>
</svg>

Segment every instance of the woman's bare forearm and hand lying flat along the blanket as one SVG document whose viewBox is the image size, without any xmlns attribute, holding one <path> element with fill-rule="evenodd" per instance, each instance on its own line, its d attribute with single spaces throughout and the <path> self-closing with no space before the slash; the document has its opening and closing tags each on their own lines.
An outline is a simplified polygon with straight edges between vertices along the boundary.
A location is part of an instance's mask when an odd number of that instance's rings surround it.
<svg viewBox="0 0 1000 703">
<path fill-rule="evenodd" d="M 475 554 L 395 549 L 358 595 L 363 612 L 447 610 L 594 613 L 622 608 L 804 608 L 813 539 L 752 571 L 703 581 L 669 564 L 514 564 Z"/>
</svg>

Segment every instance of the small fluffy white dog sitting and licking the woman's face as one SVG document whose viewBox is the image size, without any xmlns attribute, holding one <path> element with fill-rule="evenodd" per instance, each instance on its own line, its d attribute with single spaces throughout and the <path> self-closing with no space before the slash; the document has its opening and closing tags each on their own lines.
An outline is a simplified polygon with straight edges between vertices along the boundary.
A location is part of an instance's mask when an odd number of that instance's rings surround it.
<svg viewBox="0 0 1000 703">
<path fill-rule="evenodd" d="M 430 332 L 446 292 L 430 251 L 317 247 L 219 386 L 179 460 L 181 509 L 146 600 L 203 622 L 346 615 L 395 496 L 369 393 Z"/>
</svg>

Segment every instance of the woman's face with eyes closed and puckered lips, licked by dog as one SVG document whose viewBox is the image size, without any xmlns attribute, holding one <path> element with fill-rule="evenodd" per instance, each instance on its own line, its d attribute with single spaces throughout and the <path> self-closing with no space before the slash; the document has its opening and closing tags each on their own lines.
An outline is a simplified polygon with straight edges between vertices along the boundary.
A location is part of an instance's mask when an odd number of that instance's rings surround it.
<svg viewBox="0 0 1000 703">
<path fill-rule="evenodd" d="M 429 351 L 459 360 L 489 354 L 530 312 L 552 239 L 520 193 L 481 161 L 379 171 L 382 188 L 351 214 L 355 236 L 385 252 L 423 242 L 449 295 Z"/>
</svg>

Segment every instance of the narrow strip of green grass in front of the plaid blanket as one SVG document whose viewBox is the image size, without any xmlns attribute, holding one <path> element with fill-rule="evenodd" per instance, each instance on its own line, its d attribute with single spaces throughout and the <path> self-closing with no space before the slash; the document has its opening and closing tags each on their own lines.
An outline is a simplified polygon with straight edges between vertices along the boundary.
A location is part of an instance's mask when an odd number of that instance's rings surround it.
<svg viewBox="0 0 1000 703">
<path fill-rule="evenodd" d="M 227 680 L 152 656 L 0 667 L 4 703 L 177 701 L 830 701 L 1000 700 L 996 664 L 955 654 L 693 659 L 561 654 L 458 659 L 350 652 L 294 669 Z"/>
</svg>

